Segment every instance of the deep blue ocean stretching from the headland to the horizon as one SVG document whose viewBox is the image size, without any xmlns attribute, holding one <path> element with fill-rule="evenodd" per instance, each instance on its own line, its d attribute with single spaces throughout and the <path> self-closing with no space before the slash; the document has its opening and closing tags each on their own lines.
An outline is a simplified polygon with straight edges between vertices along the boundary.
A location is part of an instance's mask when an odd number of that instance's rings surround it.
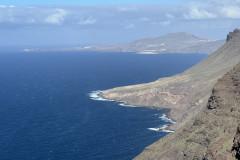
<svg viewBox="0 0 240 160">
<path fill-rule="evenodd" d="M 204 54 L 0 54 L 1 160 L 130 160 L 169 134 L 167 110 L 99 101 L 96 91 L 172 76 Z M 96 95 L 95 95 L 96 96 Z"/>
</svg>

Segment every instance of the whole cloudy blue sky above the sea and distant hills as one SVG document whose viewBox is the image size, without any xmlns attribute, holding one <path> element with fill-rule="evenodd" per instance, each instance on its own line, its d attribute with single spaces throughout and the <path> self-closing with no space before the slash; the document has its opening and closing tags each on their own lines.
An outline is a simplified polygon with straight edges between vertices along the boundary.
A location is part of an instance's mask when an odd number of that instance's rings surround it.
<svg viewBox="0 0 240 160">
<path fill-rule="evenodd" d="M 188 32 L 225 39 L 240 0 L 0 0 L 0 46 L 119 44 Z"/>
</svg>

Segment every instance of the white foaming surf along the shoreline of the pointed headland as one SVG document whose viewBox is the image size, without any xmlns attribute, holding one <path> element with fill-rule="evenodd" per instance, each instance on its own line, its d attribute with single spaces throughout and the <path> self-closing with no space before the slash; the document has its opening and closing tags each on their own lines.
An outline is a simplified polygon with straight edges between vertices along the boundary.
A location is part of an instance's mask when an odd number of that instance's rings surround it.
<svg viewBox="0 0 240 160">
<path fill-rule="evenodd" d="M 156 107 L 146 107 L 146 106 L 134 106 L 134 105 L 130 105 L 127 104 L 127 102 L 125 101 L 116 101 L 116 100 L 112 100 L 112 99 L 106 99 L 103 96 L 101 96 L 101 93 L 103 91 L 102 90 L 96 90 L 96 91 L 92 91 L 90 92 L 88 95 L 92 100 L 96 100 L 96 101 L 108 101 L 108 102 L 117 102 L 118 105 L 120 106 L 124 106 L 124 107 L 145 107 L 145 108 L 149 108 L 149 109 L 157 109 L 159 110 L 160 108 L 156 108 Z M 164 109 L 164 108 L 163 108 Z M 169 112 L 168 112 L 169 113 Z M 170 123 L 170 124 L 165 124 L 163 126 L 159 126 L 159 127 L 152 127 L 152 128 L 147 128 L 148 130 L 151 131 L 161 131 L 161 132 L 167 132 L 167 133 L 173 133 L 174 130 L 170 129 L 171 126 L 173 124 L 175 124 L 176 122 L 173 121 L 171 118 L 169 118 L 168 113 L 161 115 L 159 118 L 162 119 L 164 122 L 166 123 Z"/>
</svg>

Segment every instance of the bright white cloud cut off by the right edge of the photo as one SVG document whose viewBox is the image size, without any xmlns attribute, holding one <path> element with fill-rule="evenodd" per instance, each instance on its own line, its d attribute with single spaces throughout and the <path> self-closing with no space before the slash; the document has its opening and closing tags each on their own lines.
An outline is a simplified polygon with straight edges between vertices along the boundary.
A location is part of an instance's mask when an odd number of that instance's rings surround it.
<svg viewBox="0 0 240 160">
<path fill-rule="evenodd" d="M 221 9 L 223 17 L 239 19 L 240 18 L 240 7 L 238 6 L 227 6 Z"/>
</svg>

